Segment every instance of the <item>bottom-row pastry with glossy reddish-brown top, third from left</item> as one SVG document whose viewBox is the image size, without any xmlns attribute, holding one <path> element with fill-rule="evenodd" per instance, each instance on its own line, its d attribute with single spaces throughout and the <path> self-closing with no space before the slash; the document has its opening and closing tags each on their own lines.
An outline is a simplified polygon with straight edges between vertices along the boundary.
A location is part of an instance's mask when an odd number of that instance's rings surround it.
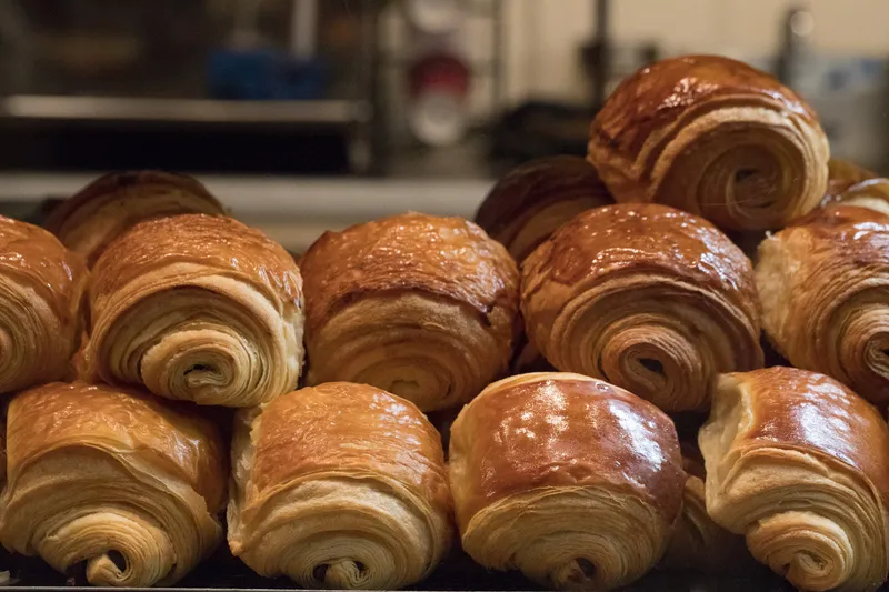
<svg viewBox="0 0 889 592">
<path fill-rule="evenodd" d="M 608 590 L 653 566 L 682 503 L 679 442 L 655 405 L 589 377 L 495 382 L 451 427 L 463 549 L 558 590 Z"/>
</svg>

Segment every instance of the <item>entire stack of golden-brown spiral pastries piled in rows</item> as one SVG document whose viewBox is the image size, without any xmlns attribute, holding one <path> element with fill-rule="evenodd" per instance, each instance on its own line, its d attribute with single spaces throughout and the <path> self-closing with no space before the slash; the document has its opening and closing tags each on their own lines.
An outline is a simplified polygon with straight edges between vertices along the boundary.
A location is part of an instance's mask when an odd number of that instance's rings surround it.
<svg viewBox="0 0 889 592">
<path fill-rule="evenodd" d="M 475 221 L 294 257 L 152 171 L 47 230 L 0 218 L 0 543 L 114 586 L 227 541 L 304 588 L 411 586 L 462 552 L 551 589 L 763 564 L 876 590 L 888 188 L 790 89 L 690 56 Z"/>
</svg>

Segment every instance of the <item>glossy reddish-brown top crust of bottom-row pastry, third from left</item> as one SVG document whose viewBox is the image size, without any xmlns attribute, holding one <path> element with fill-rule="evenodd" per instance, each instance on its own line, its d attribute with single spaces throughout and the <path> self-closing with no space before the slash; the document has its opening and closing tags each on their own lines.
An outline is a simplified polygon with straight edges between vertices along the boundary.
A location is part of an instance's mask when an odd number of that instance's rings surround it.
<svg viewBox="0 0 889 592">
<path fill-rule="evenodd" d="M 607 382 L 557 372 L 482 391 L 451 425 L 450 462 L 452 471 L 459 464 L 461 532 L 508 495 L 558 486 L 629 492 L 672 523 L 686 482 L 676 428 L 662 411 Z"/>
</svg>

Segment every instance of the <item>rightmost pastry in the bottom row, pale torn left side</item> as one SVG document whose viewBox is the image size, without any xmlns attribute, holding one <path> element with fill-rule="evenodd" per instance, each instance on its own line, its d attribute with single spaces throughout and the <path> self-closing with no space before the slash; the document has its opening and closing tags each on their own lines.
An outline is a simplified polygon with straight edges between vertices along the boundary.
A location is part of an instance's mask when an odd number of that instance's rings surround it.
<svg viewBox="0 0 889 592">
<path fill-rule="evenodd" d="M 720 378 L 699 437 L 707 512 L 800 590 L 889 571 L 889 428 L 839 382 L 791 368 Z"/>
</svg>

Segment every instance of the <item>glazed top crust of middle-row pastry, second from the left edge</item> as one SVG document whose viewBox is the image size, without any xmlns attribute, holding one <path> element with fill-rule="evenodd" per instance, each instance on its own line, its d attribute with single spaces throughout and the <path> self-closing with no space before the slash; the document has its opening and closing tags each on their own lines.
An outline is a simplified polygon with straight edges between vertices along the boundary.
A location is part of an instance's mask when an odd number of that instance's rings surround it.
<svg viewBox="0 0 889 592">
<path fill-rule="evenodd" d="M 176 263 L 201 265 L 203 275 L 240 279 L 301 305 L 299 268 L 280 244 L 237 220 L 206 214 L 148 220 L 119 237 L 92 270 L 90 300 L 103 301 L 134 279 Z"/>
</svg>

